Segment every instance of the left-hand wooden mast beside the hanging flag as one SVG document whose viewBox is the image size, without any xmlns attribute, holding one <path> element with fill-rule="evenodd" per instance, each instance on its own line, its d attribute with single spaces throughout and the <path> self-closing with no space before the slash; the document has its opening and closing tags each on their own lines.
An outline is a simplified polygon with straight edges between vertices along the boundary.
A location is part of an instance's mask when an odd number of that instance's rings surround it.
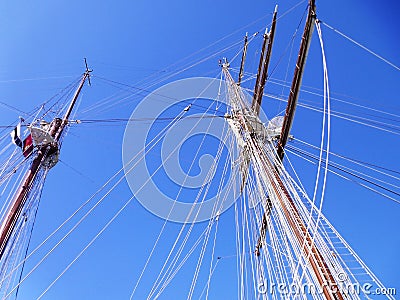
<svg viewBox="0 0 400 300">
<path fill-rule="evenodd" d="M 86 64 L 86 71 L 82 75 L 82 79 L 79 83 L 78 88 L 75 91 L 74 96 L 71 99 L 70 105 L 64 115 L 64 118 L 55 118 L 51 123 L 49 134 L 54 139 L 54 142 L 39 146 L 36 157 L 33 159 L 31 167 L 26 172 L 21 185 L 14 196 L 10 209 L 8 210 L 0 227 L 0 259 L 2 259 L 3 257 L 6 246 L 12 236 L 17 220 L 21 215 L 26 200 L 28 199 L 29 193 L 33 187 L 33 183 L 42 167 L 42 164 L 52 153 L 59 151 L 58 142 L 62 136 L 65 126 L 68 124 L 68 118 L 74 108 L 76 100 L 78 99 L 79 93 L 82 90 L 83 84 L 85 83 L 86 79 L 89 79 L 90 72 L 91 70 L 88 69 Z"/>
</svg>

